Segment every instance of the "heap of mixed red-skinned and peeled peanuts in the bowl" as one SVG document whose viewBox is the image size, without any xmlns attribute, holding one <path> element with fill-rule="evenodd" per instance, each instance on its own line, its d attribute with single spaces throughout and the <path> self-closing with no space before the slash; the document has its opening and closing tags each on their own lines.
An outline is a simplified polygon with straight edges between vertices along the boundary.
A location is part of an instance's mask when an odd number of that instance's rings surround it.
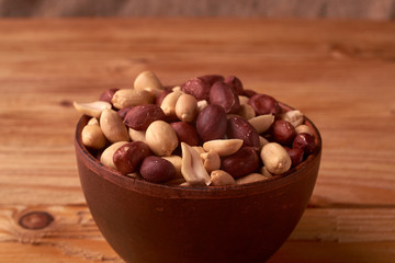
<svg viewBox="0 0 395 263">
<path fill-rule="evenodd" d="M 218 186 L 268 180 L 314 151 L 300 111 L 283 112 L 234 77 L 206 75 L 163 87 L 151 71 L 133 89 L 74 103 L 91 117 L 81 138 L 110 169 L 154 183 Z"/>
</svg>

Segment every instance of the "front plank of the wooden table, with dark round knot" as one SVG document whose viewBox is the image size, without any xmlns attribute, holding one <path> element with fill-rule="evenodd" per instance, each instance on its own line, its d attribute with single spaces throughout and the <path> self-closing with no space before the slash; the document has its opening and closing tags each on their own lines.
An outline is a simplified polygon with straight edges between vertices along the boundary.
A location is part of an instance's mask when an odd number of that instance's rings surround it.
<svg viewBox="0 0 395 263">
<path fill-rule="evenodd" d="M 54 217 L 47 228 L 29 230 L 18 224 L 23 215 L 37 210 Z M 350 262 L 357 258 L 359 262 L 372 262 L 372 259 L 385 262 L 394 256 L 394 207 L 308 208 L 270 262 L 316 262 L 326 258 L 331 262 Z M 357 250 L 362 254 L 356 255 Z M 330 255 L 334 252 L 339 256 Z M 41 262 L 54 258 L 68 262 L 121 262 L 84 205 L 0 206 L 0 254 L 9 256 L 5 262 L 35 262 L 34 255 L 40 253 L 45 254 Z M 32 259 L 26 259 L 26 254 Z"/>
</svg>

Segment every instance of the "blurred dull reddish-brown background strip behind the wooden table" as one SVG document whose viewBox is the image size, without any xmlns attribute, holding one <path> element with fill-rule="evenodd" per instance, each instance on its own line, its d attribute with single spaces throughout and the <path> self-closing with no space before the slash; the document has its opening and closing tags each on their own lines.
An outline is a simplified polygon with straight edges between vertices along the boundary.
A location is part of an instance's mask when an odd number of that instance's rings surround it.
<svg viewBox="0 0 395 263">
<path fill-rule="evenodd" d="M 392 20 L 395 0 L 0 0 L 0 16 L 261 16 Z"/>
</svg>

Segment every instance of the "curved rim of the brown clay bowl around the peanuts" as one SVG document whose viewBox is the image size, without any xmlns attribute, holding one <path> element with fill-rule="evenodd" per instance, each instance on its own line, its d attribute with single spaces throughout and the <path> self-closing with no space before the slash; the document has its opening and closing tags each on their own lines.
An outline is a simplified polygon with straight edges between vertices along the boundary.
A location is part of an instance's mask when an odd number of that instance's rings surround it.
<svg viewBox="0 0 395 263">
<path fill-rule="evenodd" d="M 282 108 L 293 110 L 293 107 L 287 106 L 284 103 L 280 102 Z M 269 192 L 274 188 L 283 187 L 285 185 L 292 184 L 295 181 L 302 180 L 304 176 L 307 176 L 307 173 L 304 173 L 305 169 L 312 168 L 314 163 L 320 162 L 323 139 L 319 134 L 319 130 L 315 124 L 306 116 L 305 124 L 311 127 L 312 133 L 315 137 L 316 147 L 307 159 L 302 163 L 292 168 L 290 171 L 281 174 L 274 175 L 264 181 L 246 183 L 246 184 L 236 184 L 236 185 L 224 185 L 224 186 L 179 186 L 179 185 L 168 185 L 168 184 L 158 184 L 151 183 L 143 179 L 131 178 L 121 174 L 120 172 L 112 170 L 104 164 L 102 164 L 95 157 L 93 157 L 86 146 L 82 144 L 81 132 L 84 125 L 90 119 L 89 116 L 82 115 L 77 123 L 75 132 L 75 149 L 77 159 L 84 160 L 86 167 L 91 170 L 94 174 L 100 178 L 109 181 L 117 186 L 138 192 L 146 195 L 153 196 L 163 196 L 166 193 L 166 198 L 222 198 L 222 197 L 238 197 L 246 195 L 253 195 L 257 193 Z M 79 173 L 79 176 L 83 174 Z"/>
</svg>

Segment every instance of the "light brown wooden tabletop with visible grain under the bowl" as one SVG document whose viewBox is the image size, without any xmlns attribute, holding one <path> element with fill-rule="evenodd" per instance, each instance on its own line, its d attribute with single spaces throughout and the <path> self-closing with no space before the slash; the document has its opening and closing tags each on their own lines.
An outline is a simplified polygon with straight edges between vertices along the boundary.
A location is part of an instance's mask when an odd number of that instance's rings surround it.
<svg viewBox="0 0 395 263">
<path fill-rule="evenodd" d="M 86 206 L 74 100 L 236 75 L 318 126 L 318 181 L 275 262 L 395 262 L 395 23 L 273 20 L 0 21 L 1 262 L 122 262 Z M 19 225 L 29 211 L 54 221 Z M 34 221 L 32 222 L 34 224 Z"/>
</svg>

